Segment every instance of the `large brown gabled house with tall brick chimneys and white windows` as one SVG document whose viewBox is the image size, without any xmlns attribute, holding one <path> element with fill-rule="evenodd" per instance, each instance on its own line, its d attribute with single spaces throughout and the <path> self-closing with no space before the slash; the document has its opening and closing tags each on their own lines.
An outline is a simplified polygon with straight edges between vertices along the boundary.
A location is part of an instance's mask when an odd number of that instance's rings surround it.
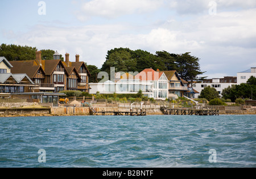
<svg viewBox="0 0 256 179">
<path fill-rule="evenodd" d="M 81 62 L 81 65 L 69 63 L 69 55 L 66 55 L 66 62 L 63 63 L 57 51 L 53 55 L 53 60 L 42 60 L 42 52 L 39 51 L 36 52 L 35 60 L 11 61 L 10 63 L 13 65 L 12 73 L 26 73 L 38 85 L 35 92 L 59 93 L 63 90 L 89 90 L 88 80 L 82 81 L 82 73 L 80 74 L 77 68 L 85 68 L 86 76 L 90 76 L 89 70 L 84 62 Z"/>
</svg>

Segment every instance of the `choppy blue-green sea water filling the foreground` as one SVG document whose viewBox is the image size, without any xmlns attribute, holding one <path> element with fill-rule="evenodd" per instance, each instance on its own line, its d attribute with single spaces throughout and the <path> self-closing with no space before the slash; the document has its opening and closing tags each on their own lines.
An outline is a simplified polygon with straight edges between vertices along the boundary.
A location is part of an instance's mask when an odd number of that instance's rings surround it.
<svg viewBox="0 0 256 179">
<path fill-rule="evenodd" d="M 0 118 L 0 167 L 255 167 L 256 115 Z"/>
</svg>

